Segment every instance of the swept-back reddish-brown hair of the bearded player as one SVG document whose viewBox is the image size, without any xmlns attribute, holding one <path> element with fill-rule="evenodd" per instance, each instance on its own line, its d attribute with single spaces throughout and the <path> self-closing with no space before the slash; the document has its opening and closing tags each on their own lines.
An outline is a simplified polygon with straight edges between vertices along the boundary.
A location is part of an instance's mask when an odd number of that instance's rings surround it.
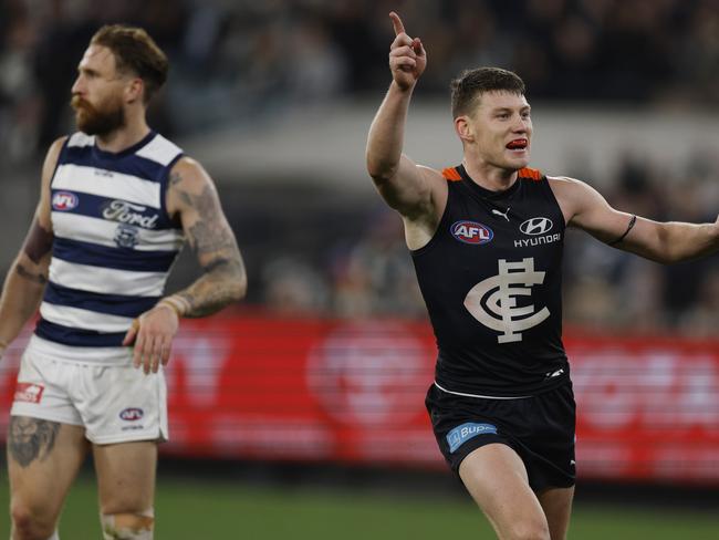
<svg viewBox="0 0 719 540">
<path fill-rule="evenodd" d="M 95 32 L 90 44 L 106 46 L 115 56 L 117 71 L 132 71 L 143 80 L 145 103 L 167 81 L 167 56 L 142 28 L 105 24 Z"/>
</svg>

